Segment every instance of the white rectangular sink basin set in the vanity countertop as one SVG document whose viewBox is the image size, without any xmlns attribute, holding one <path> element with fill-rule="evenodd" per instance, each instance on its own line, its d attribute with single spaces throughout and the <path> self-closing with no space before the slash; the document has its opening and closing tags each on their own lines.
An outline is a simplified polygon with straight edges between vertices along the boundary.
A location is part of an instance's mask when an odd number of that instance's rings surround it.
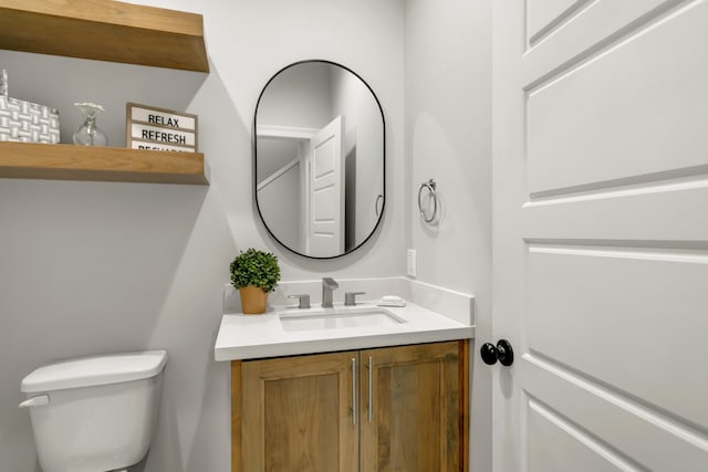
<svg viewBox="0 0 708 472">
<path fill-rule="evenodd" d="M 406 323 L 406 321 L 387 310 L 367 308 L 346 312 L 281 314 L 280 323 L 287 332 L 302 332 L 397 325 Z"/>
</svg>

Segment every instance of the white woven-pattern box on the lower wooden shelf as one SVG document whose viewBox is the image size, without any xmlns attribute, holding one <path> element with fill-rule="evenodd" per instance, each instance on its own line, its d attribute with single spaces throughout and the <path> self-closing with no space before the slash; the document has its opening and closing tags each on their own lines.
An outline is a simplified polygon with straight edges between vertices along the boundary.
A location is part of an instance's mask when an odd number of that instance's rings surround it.
<svg viewBox="0 0 708 472">
<path fill-rule="evenodd" d="M 8 96 L 8 72 L 0 74 L 0 141 L 59 143 L 59 111 Z"/>
</svg>

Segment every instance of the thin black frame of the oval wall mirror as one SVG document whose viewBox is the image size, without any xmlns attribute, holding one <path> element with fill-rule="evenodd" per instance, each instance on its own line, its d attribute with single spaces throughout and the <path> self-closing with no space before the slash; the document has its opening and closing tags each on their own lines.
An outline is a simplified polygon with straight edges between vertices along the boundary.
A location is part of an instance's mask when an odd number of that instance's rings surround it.
<svg viewBox="0 0 708 472">
<path fill-rule="evenodd" d="M 383 202 L 381 206 L 381 212 L 378 213 L 378 219 L 376 220 L 376 224 L 374 225 L 374 228 L 372 229 L 372 232 L 364 239 L 364 241 L 362 241 L 360 244 L 355 245 L 354 248 L 352 248 L 348 251 L 345 251 L 341 254 L 336 254 L 336 255 L 329 255 L 329 256 L 315 256 L 315 255 L 309 255 L 309 254 L 303 254 L 302 252 L 298 252 L 294 249 L 285 245 L 282 241 L 280 241 L 278 239 L 278 237 L 275 237 L 275 234 L 273 234 L 273 232 L 270 230 L 270 228 L 268 227 L 268 224 L 266 223 L 266 219 L 263 218 L 263 213 L 261 212 L 261 207 L 258 202 L 258 176 L 256 175 L 256 170 L 257 170 L 257 164 L 258 164 L 258 145 L 257 145 L 257 119 L 258 119 L 258 106 L 261 103 L 261 98 L 263 97 L 263 93 L 266 93 L 266 90 L 268 88 L 268 86 L 270 85 L 271 82 L 273 82 L 273 80 L 280 75 L 282 72 L 287 71 L 290 67 L 294 67 L 295 65 L 300 65 L 300 64 L 306 64 L 306 63 L 311 63 L 311 62 L 320 62 L 320 63 L 325 63 L 325 64 L 331 64 L 341 69 L 344 69 L 345 71 L 348 71 L 350 73 L 352 73 L 355 77 L 357 77 L 360 81 L 362 81 L 362 83 L 364 85 L 366 85 L 366 88 L 368 88 L 368 91 L 371 92 L 372 96 L 374 97 L 374 101 L 376 102 L 376 106 L 378 106 L 378 112 L 381 113 L 381 124 L 382 124 L 382 136 L 383 136 L 383 144 L 382 144 L 382 166 L 383 166 Z M 303 60 L 303 61 L 298 61 L 298 62 L 293 62 L 292 64 L 289 64 L 284 67 L 282 67 L 280 71 L 278 71 L 277 73 L 273 74 L 272 77 L 270 77 L 268 80 L 268 82 L 266 83 L 266 85 L 263 86 L 263 90 L 261 91 L 261 93 L 258 95 L 258 102 L 256 102 L 256 109 L 253 112 L 253 129 L 252 129 L 252 148 L 253 148 L 253 200 L 256 201 L 256 208 L 258 209 L 258 216 L 261 219 L 261 222 L 263 223 L 263 227 L 266 228 L 266 231 L 268 231 L 268 234 L 270 234 L 270 237 L 275 240 L 275 242 L 278 242 L 278 244 L 280 244 L 282 248 L 285 248 L 288 251 L 292 252 L 293 254 L 298 254 L 301 255 L 303 258 L 308 258 L 308 259 L 314 259 L 314 260 L 329 260 L 329 259 L 336 259 L 336 258 L 342 258 L 344 255 L 351 254 L 352 252 L 356 251 L 357 249 L 362 248 L 364 244 L 366 244 L 366 242 L 372 239 L 372 237 L 374 235 L 374 233 L 376 233 L 376 230 L 378 229 L 378 227 L 381 227 L 381 222 L 384 219 L 384 212 L 386 210 L 386 118 L 384 116 L 384 108 L 381 106 L 381 102 L 378 101 L 378 97 L 376 96 L 376 94 L 374 93 L 374 90 L 368 85 L 368 83 L 362 78 L 361 75 L 358 75 L 356 72 L 352 71 L 350 67 L 347 67 L 346 65 L 342 65 L 340 63 L 333 62 L 333 61 L 327 61 L 324 59 L 308 59 L 308 60 Z"/>
</svg>

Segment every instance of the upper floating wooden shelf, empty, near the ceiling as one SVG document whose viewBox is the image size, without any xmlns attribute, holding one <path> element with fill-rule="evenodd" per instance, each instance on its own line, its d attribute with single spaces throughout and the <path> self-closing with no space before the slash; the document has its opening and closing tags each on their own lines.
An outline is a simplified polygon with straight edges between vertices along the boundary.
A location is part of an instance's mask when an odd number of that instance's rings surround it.
<svg viewBox="0 0 708 472">
<path fill-rule="evenodd" d="M 0 49 L 209 72 L 200 14 L 113 0 L 0 0 Z"/>
</svg>

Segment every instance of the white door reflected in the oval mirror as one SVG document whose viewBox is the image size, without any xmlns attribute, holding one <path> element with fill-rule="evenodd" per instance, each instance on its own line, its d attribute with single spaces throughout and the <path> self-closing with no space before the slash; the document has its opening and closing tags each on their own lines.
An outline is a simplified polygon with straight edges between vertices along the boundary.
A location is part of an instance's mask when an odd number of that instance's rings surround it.
<svg viewBox="0 0 708 472">
<path fill-rule="evenodd" d="M 312 139 L 306 253 L 315 258 L 344 252 L 342 125 L 337 116 Z"/>
</svg>

